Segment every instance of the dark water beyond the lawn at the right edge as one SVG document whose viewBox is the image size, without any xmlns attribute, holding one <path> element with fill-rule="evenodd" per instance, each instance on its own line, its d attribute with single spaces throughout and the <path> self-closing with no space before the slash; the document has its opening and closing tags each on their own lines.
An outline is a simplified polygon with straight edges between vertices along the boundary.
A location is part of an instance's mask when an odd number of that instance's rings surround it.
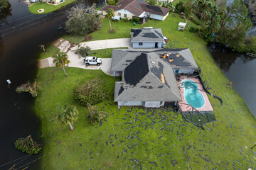
<svg viewBox="0 0 256 170">
<path fill-rule="evenodd" d="M 211 55 L 256 118 L 256 58 L 237 52 L 215 51 Z"/>
</svg>

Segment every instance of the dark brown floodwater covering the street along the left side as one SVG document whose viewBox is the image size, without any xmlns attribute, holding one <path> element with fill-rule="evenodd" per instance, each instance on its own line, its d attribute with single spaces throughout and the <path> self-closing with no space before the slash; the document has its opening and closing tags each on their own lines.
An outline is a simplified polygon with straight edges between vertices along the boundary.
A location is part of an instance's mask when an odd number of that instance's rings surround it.
<svg viewBox="0 0 256 170">
<path fill-rule="evenodd" d="M 102 0 L 89 0 L 85 4 L 91 5 L 93 2 L 102 5 Z M 34 15 L 23 1 L 10 0 L 10 3 L 5 18 L 0 18 L 0 169 L 9 169 L 14 164 L 16 169 L 26 166 L 28 169 L 38 169 L 40 160 L 28 163 L 43 153 L 23 160 L 18 158 L 27 154 L 14 148 L 18 137 L 28 135 L 43 144 L 41 122 L 33 111 L 34 99 L 29 94 L 17 94 L 15 89 L 26 81 L 36 79 L 36 60 L 41 52 L 39 45 L 48 45 L 65 33 L 58 27 L 65 28 L 65 11 L 73 4 L 53 13 Z M 11 80 L 11 86 L 7 86 L 6 79 Z M 18 160 L 11 162 L 14 159 Z M 8 162 L 11 164 L 6 164 Z"/>
</svg>

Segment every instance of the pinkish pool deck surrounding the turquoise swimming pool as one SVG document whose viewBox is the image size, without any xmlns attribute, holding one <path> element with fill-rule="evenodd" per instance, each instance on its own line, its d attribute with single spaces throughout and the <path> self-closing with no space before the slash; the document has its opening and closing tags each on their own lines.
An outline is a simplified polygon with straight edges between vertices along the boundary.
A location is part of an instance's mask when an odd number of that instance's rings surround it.
<svg viewBox="0 0 256 170">
<path fill-rule="evenodd" d="M 188 105 L 188 103 L 186 103 L 186 100 L 185 100 L 184 95 L 183 95 L 184 88 L 181 87 L 181 81 L 183 79 L 190 79 L 190 80 L 195 81 L 196 84 L 198 84 L 199 92 L 203 95 L 203 98 L 205 100 L 205 104 L 201 108 L 196 108 L 196 110 L 202 111 L 202 112 L 212 113 L 213 112 L 213 107 L 210 104 L 210 101 L 209 101 L 209 98 L 206 94 L 206 91 L 203 90 L 203 85 L 201 84 L 201 81 L 198 78 L 188 78 L 188 77 L 185 77 L 185 76 L 181 77 L 181 79 L 179 81 L 177 81 L 178 89 L 180 90 L 180 94 L 181 94 L 181 98 L 182 98 L 182 101 L 178 102 L 178 105 L 180 106 L 181 111 L 183 111 L 183 112 L 193 111 L 193 108 L 190 105 Z"/>
</svg>

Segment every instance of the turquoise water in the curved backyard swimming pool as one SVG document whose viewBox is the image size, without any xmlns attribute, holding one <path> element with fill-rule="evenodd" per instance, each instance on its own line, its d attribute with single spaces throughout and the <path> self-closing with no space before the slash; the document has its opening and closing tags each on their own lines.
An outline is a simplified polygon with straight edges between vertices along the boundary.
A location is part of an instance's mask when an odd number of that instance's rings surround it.
<svg viewBox="0 0 256 170">
<path fill-rule="evenodd" d="M 184 88 L 184 98 L 186 103 L 193 106 L 193 108 L 201 108 L 205 104 L 203 95 L 198 91 L 198 85 L 195 81 L 190 79 L 183 79 L 181 87 Z"/>
</svg>

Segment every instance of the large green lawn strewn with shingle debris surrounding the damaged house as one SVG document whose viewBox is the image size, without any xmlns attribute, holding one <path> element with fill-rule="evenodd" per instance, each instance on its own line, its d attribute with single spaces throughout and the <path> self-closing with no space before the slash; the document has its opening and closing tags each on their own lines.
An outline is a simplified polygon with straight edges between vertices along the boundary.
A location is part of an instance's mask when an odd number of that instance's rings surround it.
<svg viewBox="0 0 256 170">
<path fill-rule="evenodd" d="M 168 47 L 190 48 L 196 63 L 206 76 L 208 85 L 220 101 L 208 96 L 216 122 L 206 130 L 183 122 L 181 115 L 162 109 L 123 107 L 113 103 L 114 78 L 100 70 L 46 68 L 38 71 L 41 91 L 35 111 L 42 121 L 44 154 L 41 169 L 247 169 L 256 167 L 256 120 L 242 98 L 232 87 L 208 51 L 207 43 L 188 31 L 178 31 L 183 19 L 169 15 L 166 21 L 151 20 L 143 26 L 113 23 L 117 33 L 110 38 L 127 38 L 129 29 L 154 26 L 169 38 Z M 107 33 L 107 20 L 102 30 L 92 33 L 92 40 L 100 40 Z M 188 21 L 188 26 L 193 25 Z M 105 38 L 102 38 L 105 39 Z M 103 50 L 104 52 L 104 50 Z M 87 108 L 74 101 L 73 89 L 93 78 L 105 79 L 109 98 L 99 106 L 108 113 L 102 123 L 91 125 Z M 55 121 L 58 103 L 78 106 L 80 111 L 75 130 Z"/>
</svg>

